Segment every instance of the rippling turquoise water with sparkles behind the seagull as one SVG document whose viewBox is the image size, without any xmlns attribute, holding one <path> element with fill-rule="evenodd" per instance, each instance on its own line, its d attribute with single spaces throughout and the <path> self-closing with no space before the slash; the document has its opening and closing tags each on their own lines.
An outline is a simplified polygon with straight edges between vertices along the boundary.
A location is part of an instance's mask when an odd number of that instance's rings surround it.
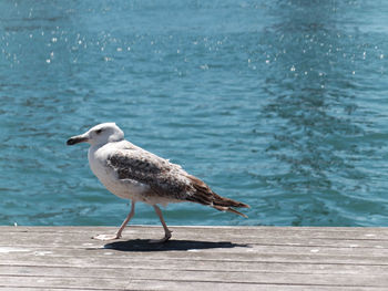
<svg viewBox="0 0 388 291">
<path fill-rule="evenodd" d="M 120 225 L 68 137 L 126 138 L 247 202 L 170 225 L 388 226 L 387 1 L 1 1 L 0 225 Z M 159 224 L 140 205 L 134 224 Z"/>
</svg>

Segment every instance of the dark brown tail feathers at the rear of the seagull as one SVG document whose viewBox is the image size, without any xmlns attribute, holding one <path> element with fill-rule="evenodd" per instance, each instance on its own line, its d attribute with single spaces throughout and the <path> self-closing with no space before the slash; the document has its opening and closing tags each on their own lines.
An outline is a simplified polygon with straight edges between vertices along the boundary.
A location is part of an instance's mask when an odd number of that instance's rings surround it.
<svg viewBox="0 0 388 291">
<path fill-rule="evenodd" d="M 192 185 L 196 190 L 193 195 L 187 197 L 187 200 L 211 206 L 214 209 L 217 209 L 219 211 L 228 211 L 228 212 L 236 214 L 247 218 L 246 215 L 238 212 L 236 209 L 232 208 L 232 207 L 251 208 L 247 204 L 243 204 L 243 202 L 239 202 L 226 197 L 222 197 L 215 194 L 204 181 L 200 180 L 194 176 L 188 175 L 187 178 L 192 181 Z"/>
</svg>

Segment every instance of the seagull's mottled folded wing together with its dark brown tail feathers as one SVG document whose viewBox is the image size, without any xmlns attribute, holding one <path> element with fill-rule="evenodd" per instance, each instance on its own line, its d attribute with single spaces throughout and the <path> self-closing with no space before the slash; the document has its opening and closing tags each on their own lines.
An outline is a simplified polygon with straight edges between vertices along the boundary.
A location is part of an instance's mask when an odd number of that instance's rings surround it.
<svg viewBox="0 0 388 291">
<path fill-rule="evenodd" d="M 181 166 L 132 144 L 112 153 L 106 164 L 114 169 L 119 179 L 149 185 L 159 196 L 207 205 L 244 217 L 232 207 L 249 208 L 246 204 L 215 194 L 204 181 L 188 175 Z"/>
</svg>

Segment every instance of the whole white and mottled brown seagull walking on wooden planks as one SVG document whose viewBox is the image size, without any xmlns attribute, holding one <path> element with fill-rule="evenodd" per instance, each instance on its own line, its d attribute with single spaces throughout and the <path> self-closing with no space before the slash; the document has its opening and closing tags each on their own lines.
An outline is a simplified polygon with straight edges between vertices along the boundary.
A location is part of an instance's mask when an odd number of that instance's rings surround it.
<svg viewBox="0 0 388 291">
<path fill-rule="evenodd" d="M 89 143 L 89 165 L 93 174 L 112 194 L 130 199 L 131 211 L 114 235 L 99 235 L 93 239 L 120 239 L 122 231 L 134 216 L 137 201 L 151 205 L 164 228 L 165 242 L 172 231 L 167 228 L 161 208 L 170 202 L 196 202 L 243 217 L 233 207 L 248 205 L 215 194 L 204 181 L 187 174 L 180 165 L 159 157 L 124 139 L 124 133 L 115 123 L 95 125 L 84 134 L 68 139 L 68 145 Z"/>
</svg>

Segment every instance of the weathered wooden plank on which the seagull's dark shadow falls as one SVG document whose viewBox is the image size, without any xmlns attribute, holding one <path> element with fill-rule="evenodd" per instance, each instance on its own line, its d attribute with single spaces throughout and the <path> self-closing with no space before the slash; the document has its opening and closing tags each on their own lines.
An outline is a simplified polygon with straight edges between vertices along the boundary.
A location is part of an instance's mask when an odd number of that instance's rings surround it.
<svg viewBox="0 0 388 291">
<path fill-rule="evenodd" d="M 11 236 L 10 236 L 11 237 Z M 54 239 L 51 240 L 50 236 L 45 236 L 44 238 L 38 238 L 38 239 L 31 239 L 28 240 L 29 236 L 25 236 L 22 238 L 22 241 L 13 240 L 12 247 L 19 248 L 19 249 L 62 249 L 62 250 L 74 250 L 78 251 L 79 249 L 88 249 L 88 250 L 98 250 L 101 248 L 110 248 L 115 250 L 123 250 L 123 251 L 152 251 L 152 250 L 165 250 L 165 251 L 185 251 L 191 250 L 194 251 L 195 249 L 202 249 L 204 251 L 212 250 L 213 252 L 224 252 L 227 251 L 228 253 L 233 252 L 241 252 L 242 249 L 246 253 L 308 253 L 312 254 L 354 254 L 354 256 L 364 256 L 367 254 L 368 257 L 381 257 L 388 254 L 388 248 L 384 246 L 384 243 L 337 243 L 335 245 L 326 245 L 319 243 L 319 245 L 308 245 L 300 242 L 299 245 L 295 245 L 293 242 L 287 243 L 275 243 L 275 242 L 261 242 L 261 243 L 233 243 L 228 241 L 201 241 L 201 240 L 172 240 L 169 245 L 164 246 L 163 248 L 161 246 L 153 246 L 147 242 L 147 240 L 127 240 L 120 241 L 120 242 L 112 242 L 112 243 L 105 243 L 103 246 L 95 245 L 95 242 L 83 242 L 82 240 L 75 241 L 72 240 L 72 245 L 64 245 L 64 243 L 58 243 L 54 241 Z M 42 239 L 50 239 L 51 241 L 48 242 L 45 246 L 41 246 Z M 89 238 L 84 241 L 89 241 Z M 0 249 L 7 248 L 7 242 L 3 241 L 3 239 L 0 239 Z M 82 252 L 86 254 L 86 252 Z M 81 253 L 81 254 L 82 254 Z"/>
</svg>

